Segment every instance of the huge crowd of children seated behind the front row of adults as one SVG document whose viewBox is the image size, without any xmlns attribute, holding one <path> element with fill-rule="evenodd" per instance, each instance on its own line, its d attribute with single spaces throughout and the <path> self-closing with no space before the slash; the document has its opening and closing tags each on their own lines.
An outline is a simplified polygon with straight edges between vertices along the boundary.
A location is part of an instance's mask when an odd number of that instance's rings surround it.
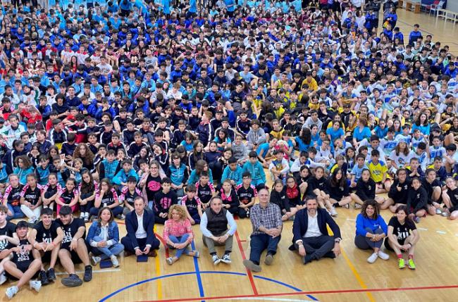
<svg viewBox="0 0 458 302">
<path fill-rule="evenodd" d="M 249 218 L 266 187 L 284 221 L 306 196 L 333 216 L 375 199 L 415 222 L 458 218 L 458 60 L 448 46 L 419 25 L 404 41 L 395 6 L 378 32 L 380 7 L 362 19 L 354 1 L 178 2 L 2 6 L 6 220 L 39 225 L 70 208 L 78 221 L 111 223 L 141 196 L 156 223 L 180 204 L 195 225 L 216 195 Z M 19 268 L 27 225 L 1 213 L 1 250 L 13 248 Z"/>
</svg>

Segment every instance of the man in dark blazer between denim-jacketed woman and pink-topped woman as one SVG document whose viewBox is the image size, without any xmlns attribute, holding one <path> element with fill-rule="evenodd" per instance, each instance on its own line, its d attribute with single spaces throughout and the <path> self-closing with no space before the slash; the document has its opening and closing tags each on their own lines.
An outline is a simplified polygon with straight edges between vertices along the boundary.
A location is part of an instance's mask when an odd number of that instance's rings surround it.
<svg viewBox="0 0 458 302">
<path fill-rule="evenodd" d="M 156 256 L 156 249 L 159 248 L 159 240 L 154 235 L 154 214 L 144 210 L 144 199 L 137 196 L 134 200 L 132 212 L 125 216 L 125 229 L 127 236 L 121 239 L 124 245 L 125 256 L 147 255 Z"/>
</svg>

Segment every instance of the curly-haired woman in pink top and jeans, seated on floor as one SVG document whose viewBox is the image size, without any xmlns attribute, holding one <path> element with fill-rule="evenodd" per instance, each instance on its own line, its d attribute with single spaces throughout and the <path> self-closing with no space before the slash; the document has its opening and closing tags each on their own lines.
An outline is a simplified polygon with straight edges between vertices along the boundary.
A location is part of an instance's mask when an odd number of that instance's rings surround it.
<svg viewBox="0 0 458 302">
<path fill-rule="evenodd" d="M 187 249 L 187 246 L 194 239 L 194 233 L 191 222 L 187 219 L 186 211 L 182 206 L 175 204 L 168 210 L 168 220 L 164 224 L 162 237 L 170 248 L 177 250 L 175 256 L 166 259 L 169 265 L 178 261 L 182 253 L 187 256 L 199 257 L 199 251 Z"/>
</svg>

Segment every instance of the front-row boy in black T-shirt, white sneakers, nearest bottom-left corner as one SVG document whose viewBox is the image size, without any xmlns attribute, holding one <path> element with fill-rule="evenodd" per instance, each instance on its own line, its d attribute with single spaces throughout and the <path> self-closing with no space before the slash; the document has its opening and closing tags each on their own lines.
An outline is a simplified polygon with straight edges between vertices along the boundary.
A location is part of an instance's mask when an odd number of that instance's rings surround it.
<svg viewBox="0 0 458 302">
<path fill-rule="evenodd" d="M 20 288 L 27 284 L 27 282 L 30 283 L 30 288 L 35 289 L 37 292 L 42 288 L 42 282 L 31 280 L 39 272 L 42 261 L 39 258 L 38 251 L 27 240 L 28 229 L 27 222 L 20 221 L 18 223 L 16 226 L 16 233 L 19 239 L 18 244 L 8 250 L 13 255 L 12 258 L 8 257 L 9 254 L 6 255 L 6 258 L 9 259 L 4 263 L 6 272 L 11 277 L 19 279 L 18 284 L 6 289 L 6 296 L 10 299 L 18 294 Z"/>
</svg>

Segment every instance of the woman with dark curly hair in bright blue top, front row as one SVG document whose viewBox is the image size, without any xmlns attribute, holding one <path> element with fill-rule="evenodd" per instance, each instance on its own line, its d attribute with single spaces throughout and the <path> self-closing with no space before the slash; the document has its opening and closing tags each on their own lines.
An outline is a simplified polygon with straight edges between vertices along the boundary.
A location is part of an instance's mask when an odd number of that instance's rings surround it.
<svg viewBox="0 0 458 302">
<path fill-rule="evenodd" d="M 388 234 L 388 227 L 380 215 L 380 206 L 374 199 L 364 201 L 361 213 L 357 216 L 357 234 L 354 244 L 363 250 L 372 249 L 367 262 L 374 263 L 377 258 L 388 260 L 390 256 L 380 250 L 383 239 Z"/>
</svg>

